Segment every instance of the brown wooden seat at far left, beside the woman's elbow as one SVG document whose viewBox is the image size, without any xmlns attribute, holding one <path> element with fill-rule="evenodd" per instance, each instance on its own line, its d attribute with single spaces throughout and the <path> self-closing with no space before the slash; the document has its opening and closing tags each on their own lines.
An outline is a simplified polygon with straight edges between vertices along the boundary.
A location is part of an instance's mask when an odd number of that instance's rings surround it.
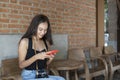
<svg viewBox="0 0 120 80">
<path fill-rule="evenodd" d="M 22 80 L 21 69 L 18 65 L 18 58 L 2 60 L 1 77 L 2 80 Z"/>
</svg>

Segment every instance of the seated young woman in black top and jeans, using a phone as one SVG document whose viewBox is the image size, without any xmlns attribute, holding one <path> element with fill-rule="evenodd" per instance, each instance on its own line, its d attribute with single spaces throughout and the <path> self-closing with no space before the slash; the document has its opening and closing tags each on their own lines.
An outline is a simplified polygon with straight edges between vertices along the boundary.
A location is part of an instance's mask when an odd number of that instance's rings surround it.
<svg viewBox="0 0 120 80">
<path fill-rule="evenodd" d="M 19 42 L 19 67 L 23 69 L 23 80 L 65 80 L 47 74 L 47 66 L 54 58 L 54 55 L 48 55 L 52 44 L 48 17 L 36 15 Z"/>
</svg>

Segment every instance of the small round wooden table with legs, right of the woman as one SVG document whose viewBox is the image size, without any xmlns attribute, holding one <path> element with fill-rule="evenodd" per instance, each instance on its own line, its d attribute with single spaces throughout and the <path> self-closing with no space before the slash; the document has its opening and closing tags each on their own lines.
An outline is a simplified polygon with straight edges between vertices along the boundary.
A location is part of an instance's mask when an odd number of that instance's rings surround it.
<svg viewBox="0 0 120 80">
<path fill-rule="evenodd" d="M 83 62 L 81 61 L 75 61 L 75 60 L 54 60 L 50 67 L 53 69 L 56 69 L 58 71 L 64 70 L 66 71 L 66 80 L 69 79 L 69 71 L 74 70 L 75 71 L 75 80 L 78 80 L 78 75 L 77 75 L 77 69 L 83 67 Z"/>
</svg>

